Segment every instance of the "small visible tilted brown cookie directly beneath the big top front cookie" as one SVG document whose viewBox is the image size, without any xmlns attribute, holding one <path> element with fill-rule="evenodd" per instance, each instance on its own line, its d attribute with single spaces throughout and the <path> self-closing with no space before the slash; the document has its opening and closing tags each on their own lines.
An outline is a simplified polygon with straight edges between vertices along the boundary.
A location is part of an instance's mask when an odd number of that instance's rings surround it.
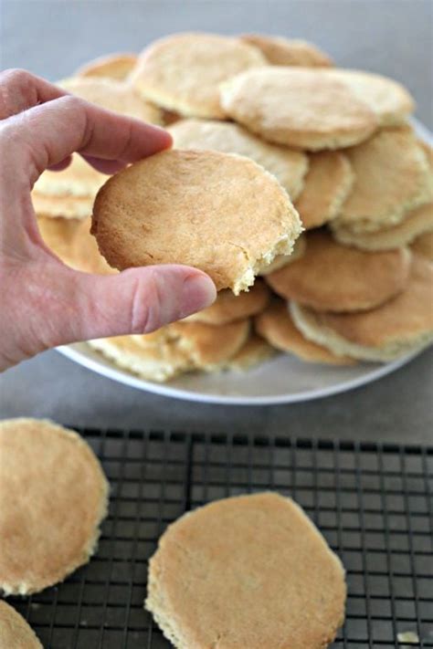
<svg viewBox="0 0 433 649">
<path fill-rule="evenodd" d="M 335 218 L 353 183 L 354 173 L 344 153 L 312 153 L 304 188 L 296 202 L 305 229 L 320 227 Z"/>
</svg>

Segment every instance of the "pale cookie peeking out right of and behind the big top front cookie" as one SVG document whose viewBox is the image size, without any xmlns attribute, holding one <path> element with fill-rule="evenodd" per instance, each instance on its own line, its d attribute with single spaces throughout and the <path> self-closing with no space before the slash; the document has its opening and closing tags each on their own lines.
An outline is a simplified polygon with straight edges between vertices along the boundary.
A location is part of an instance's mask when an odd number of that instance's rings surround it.
<svg viewBox="0 0 433 649">
<path fill-rule="evenodd" d="M 335 68 L 326 72 L 347 84 L 375 111 L 381 126 L 401 124 L 415 110 L 415 101 L 407 89 L 394 79 L 373 72 Z"/>
</svg>

